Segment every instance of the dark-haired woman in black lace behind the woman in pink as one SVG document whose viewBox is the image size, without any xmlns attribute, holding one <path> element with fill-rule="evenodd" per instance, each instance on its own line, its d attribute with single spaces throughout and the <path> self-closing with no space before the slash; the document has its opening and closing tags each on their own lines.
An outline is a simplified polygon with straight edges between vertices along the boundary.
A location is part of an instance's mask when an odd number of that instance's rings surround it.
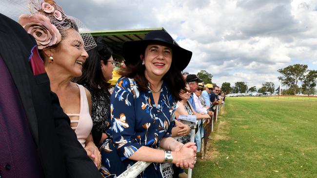
<svg viewBox="0 0 317 178">
<path fill-rule="evenodd" d="M 110 123 L 110 84 L 114 70 L 112 50 L 98 38 L 97 47 L 88 51 L 89 57 L 82 66 L 82 75 L 73 81 L 84 86 L 91 93 L 92 134 L 96 145 L 108 138 Z"/>
</svg>

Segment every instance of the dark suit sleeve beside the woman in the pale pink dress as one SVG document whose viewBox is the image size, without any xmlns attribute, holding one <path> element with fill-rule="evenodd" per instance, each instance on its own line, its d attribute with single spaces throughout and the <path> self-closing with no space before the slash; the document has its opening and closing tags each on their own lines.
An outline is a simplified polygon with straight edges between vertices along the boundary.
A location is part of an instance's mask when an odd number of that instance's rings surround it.
<svg viewBox="0 0 317 178">
<path fill-rule="evenodd" d="M 70 178 L 101 178 L 94 162 L 78 142 L 75 132 L 70 127 L 70 120 L 59 105 L 57 95 L 52 92 L 53 115 L 56 133 L 64 151 L 66 168 Z"/>
</svg>

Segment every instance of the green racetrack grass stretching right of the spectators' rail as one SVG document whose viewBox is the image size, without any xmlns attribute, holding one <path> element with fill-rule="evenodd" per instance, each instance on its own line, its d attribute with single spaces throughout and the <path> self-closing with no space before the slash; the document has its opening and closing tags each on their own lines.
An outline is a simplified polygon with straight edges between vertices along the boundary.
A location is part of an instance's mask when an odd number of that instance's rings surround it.
<svg viewBox="0 0 317 178">
<path fill-rule="evenodd" d="M 227 97 L 193 178 L 317 178 L 317 98 Z"/>
</svg>

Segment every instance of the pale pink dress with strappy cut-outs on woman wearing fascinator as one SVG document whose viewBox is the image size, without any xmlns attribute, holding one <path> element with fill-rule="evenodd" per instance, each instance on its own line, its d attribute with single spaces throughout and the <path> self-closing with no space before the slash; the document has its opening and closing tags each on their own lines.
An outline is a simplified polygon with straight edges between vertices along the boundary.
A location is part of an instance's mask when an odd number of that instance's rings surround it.
<svg viewBox="0 0 317 178">
<path fill-rule="evenodd" d="M 71 123 L 78 123 L 76 127 L 72 127 L 77 135 L 77 140 L 80 142 L 82 147 L 85 147 L 85 142 L 89 136 L 93 127 L 93 121 L 89 113 L 89 106 L 85 88 L 81 85 L 76 84 L 79 88 L 80 93 L 80 111 L 79 114 L 67 114 L 68 116 L 78 116 L 78 120 L 71 120 Z"/>
</svg>

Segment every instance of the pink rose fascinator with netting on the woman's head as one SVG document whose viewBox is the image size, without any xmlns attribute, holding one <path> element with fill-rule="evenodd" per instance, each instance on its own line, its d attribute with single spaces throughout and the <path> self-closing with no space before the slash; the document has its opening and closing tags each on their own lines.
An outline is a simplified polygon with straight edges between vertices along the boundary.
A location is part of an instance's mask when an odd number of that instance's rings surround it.
<svg viewBox="0 0 317 178">
<path fill-rule="evenodd" d="M 63 9 L 54 0 L 27 0 L 30 14 L 22 14 L 19 23 L 31 34 L 41 50 L 57 45 L 65 36 L 69 28 L 76 29 L 84 41 L 86 51 L 95 48 L 96 42 L 77 18 L 67 16 Z"/>
</svg>

